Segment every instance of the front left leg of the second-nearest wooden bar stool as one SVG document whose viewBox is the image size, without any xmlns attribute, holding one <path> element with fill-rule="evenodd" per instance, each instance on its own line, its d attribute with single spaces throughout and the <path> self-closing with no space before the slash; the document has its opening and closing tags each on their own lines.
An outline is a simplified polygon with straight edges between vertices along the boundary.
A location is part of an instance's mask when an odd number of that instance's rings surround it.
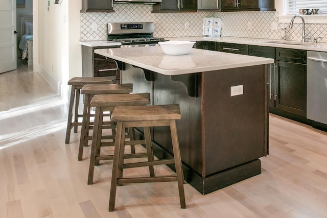
<svg viewBox="0 0 327 218">
<path fill-rule="evenodd" d="M 96 148 L 97 146 L 97 138 L 98 138 L 98 129 L 99 129 L 99 120 L 100 120 L 100 107 L 96 108 L 96 114 L 95 114 L 95 121 L 94 121 L 94 127 L 93 127 L 93 136 L 92 136 L 92 148 Z M 101 137 L 101 136 L 100 136 Z M 88 169 L 88 179 L 87 184 L 91 185 L 93 184 L 93 177 L 94 177 L 94 167 L 95 167 L 95 157 L 96 157 L 96 149 L 91 149 L 91 155 L 90 155 L 90 165 Z"/>
</svg>

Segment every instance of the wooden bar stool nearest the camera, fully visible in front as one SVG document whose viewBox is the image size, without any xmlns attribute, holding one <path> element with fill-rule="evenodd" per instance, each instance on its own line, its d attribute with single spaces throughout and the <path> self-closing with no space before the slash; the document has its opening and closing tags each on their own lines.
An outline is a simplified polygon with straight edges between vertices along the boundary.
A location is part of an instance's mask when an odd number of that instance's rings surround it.
<svg viewBox="0 0 327 218">
<path fill-rule="evenodd" d="M 142 182 L 171 182 L 177 181 L 179 191 L 180 207 L 185 208 L 185 196 L 183 187 L 183 171 L 181 165 L 179 143 L 176 129 L 176 119 L 180 119 L 179 105 L 154 105 L 154 106 L 119 106 L 114 109 L 111 120 L 117 122 L 112 177 L 109 198 L 109 211 L 114 210 L 116 188 L 124 183 L 142 183 Z M 154 160 L 148 156 L 148 161 L 124 163 L 125 147 L 125 128 L 143 127 L 146 148 L 151 147 L 150 127 L 170 126 L 173 159 Z M 150 149 L 152 152 L 152 149 Z M 154 166 L 161 164 L 175 163 L 176 176 L 155 177 L 135 177 L 123 178 L 123 169 L 131 167 Z"/>
</svg>

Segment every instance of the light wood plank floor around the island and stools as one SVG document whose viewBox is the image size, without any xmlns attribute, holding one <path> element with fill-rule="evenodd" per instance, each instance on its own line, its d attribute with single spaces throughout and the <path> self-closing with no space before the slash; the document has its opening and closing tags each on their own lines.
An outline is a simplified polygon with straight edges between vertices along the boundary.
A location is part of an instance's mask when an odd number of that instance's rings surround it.
<svg viewBox="0 0 327 218">
<path fill-rule="evenodd" d="M 89 147 L 77 161 L 79 133 L 64 143 L 66 111 L 27 65 L 0 74 L 0 217 L 327 217 L 326 132 L 270 115 L 261 175 L 205 196 L 185 184 L 186 209 L 176 183 L 124 185 L 108 212 L 112 162 L 87 185 Z"/>
</svg>

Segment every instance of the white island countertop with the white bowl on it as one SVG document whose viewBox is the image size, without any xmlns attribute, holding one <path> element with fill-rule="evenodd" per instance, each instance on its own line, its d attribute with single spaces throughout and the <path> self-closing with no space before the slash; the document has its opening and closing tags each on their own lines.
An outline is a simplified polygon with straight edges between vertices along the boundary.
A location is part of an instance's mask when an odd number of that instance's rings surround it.
<svg viewBox="0 0 327 218">
<path fill-rule="evenodd" d="M 236 67 L 273 63 L 270 58 L 192 49 L 188 55 L 165 55 L 160 46 L 144 46 L 95 50 L 127 64 L 152 70 L 164 75 L 182 75 Z"/>
</svg>

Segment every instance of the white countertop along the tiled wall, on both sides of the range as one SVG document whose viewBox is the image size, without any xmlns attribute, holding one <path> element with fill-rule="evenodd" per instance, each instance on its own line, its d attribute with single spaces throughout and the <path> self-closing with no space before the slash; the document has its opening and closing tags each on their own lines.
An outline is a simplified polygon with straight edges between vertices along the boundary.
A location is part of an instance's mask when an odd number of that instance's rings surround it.
<svg viewBox="0 0 327 218">
<path fill-rule="evenodd" d="M 292 45 L 292 44 L 269 43 L 269 41 L 278 41 L 276 39 L 256 39 L 256 38 L 242 38 L 242 37 L 230 37 L 230 36 L 187 36 L 187 37 L 168 37 L 165 39 L 188 40 L 188 41 L 216 41 L 216 42 L 228 42 L 228 43 L 237 43 L 237 44 L 269 46 L 269 47 L 284 47 L 286 49 L 327 52 L 327 44 L 320 43 L 320 42 L 312 45 Z M 79 43 L 89 47 L 121 45 L 120 42 L 113 42 L 113 41 L 106 41 L 106 40 L 80 41 Z"/>
</svg>

